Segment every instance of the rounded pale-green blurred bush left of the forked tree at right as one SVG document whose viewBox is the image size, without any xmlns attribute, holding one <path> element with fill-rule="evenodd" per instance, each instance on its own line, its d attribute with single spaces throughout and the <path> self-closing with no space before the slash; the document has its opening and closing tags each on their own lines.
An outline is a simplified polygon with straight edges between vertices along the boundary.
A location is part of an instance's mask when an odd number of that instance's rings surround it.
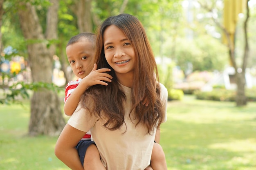
<svg viewBox="0 0 256 170">
<path fill-rule="evenodd" d="M 194 40 L 179 40 L 177 44 L 177 65 L 184 73 L 188 63 L 193 65 L 192 71 L 222 71 L 228 63 L 227 48 L 209 35 Z"/>
</svg>

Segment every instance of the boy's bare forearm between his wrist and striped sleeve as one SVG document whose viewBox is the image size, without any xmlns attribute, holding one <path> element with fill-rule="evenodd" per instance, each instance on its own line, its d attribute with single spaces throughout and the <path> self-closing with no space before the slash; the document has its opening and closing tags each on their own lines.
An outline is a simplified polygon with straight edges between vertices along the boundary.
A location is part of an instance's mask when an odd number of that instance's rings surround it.
<svg viewBox="0 0 256 170">
<path fill-rule="evenodd" d="M 88 88 L 88 84 L 79 83 L 78 86 L 74 89 L 74 91 L 67 98 L 67 101 L 64 104 L 64 113 L 67 116 L 71 116 L 80 101 L 80 97 L 83 95 L 83 92 Z"/>
</svg>

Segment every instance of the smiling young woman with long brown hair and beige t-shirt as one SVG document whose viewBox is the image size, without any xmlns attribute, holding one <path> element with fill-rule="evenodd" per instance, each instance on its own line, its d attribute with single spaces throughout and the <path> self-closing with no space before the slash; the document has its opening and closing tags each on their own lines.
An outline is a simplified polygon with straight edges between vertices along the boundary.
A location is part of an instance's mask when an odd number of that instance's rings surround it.
<svg viewBox="0 0 256 170">
<path fill-rule="evenodd" d="M 129 14 L 106 19 L 97 33 L 95 63 L 110 68 L 112 82 L 83 94 L 55 154 L 71 169 L 83 170 L 75 147 L 91 130 L 106 170 L 144 170 L 156 131 L 166 121 L 167 90 L 156 83 L 155 58 L 141 22 Z"/>
</svg>

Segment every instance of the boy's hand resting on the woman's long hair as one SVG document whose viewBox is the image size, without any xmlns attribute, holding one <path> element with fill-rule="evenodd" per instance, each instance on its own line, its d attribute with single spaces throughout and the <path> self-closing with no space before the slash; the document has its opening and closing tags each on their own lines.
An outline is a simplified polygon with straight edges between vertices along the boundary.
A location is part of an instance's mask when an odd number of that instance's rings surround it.
<svg viewBox="0 0 256 170">
<path fill-rule="evenodd" d="M 84 77 L 81 81 L 81 83 L 86 83 L 88 86 L 93 86 L 96 84 L 101 84 L 108 86 L 107 82 L 112 82 L 112 76 L 108 73 L 110 71 L 109 68 L 100 68 L 97 70 L 97 64 L 94 64 L 94 67 L 90 74 L 88 74 L 86 77 Z"/>
</svg>

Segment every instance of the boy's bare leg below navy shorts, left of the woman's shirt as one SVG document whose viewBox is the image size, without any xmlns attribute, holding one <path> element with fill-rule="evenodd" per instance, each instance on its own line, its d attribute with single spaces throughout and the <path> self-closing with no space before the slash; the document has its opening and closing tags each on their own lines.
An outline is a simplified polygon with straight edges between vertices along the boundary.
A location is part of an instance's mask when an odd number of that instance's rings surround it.
<svg viewBox="0 0 256 170">
<path fill-rule="evenodd" d="M 85 170 L 106 170 L 101 162 L 99 151 L 95 144 L 88 146 L 85 152 L 83 168 Z"/>
</svg>

